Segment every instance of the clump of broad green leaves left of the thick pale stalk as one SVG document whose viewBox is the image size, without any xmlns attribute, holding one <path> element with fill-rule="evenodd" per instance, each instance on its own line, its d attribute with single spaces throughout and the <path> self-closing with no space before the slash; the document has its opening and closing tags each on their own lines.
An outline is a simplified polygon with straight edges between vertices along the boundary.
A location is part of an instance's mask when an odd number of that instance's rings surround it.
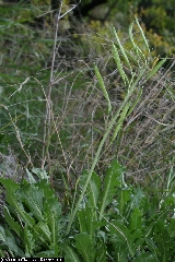
<svg viewBox="0 0 175 262">
<path fill-rule="evenodd" d="M 61 238 L 61 205 L 45 179 L 21 184 L 0 178 L 7 191 L 1 226 L 1 249 L 12 257 L 58 257 Z"/>
</svg>

